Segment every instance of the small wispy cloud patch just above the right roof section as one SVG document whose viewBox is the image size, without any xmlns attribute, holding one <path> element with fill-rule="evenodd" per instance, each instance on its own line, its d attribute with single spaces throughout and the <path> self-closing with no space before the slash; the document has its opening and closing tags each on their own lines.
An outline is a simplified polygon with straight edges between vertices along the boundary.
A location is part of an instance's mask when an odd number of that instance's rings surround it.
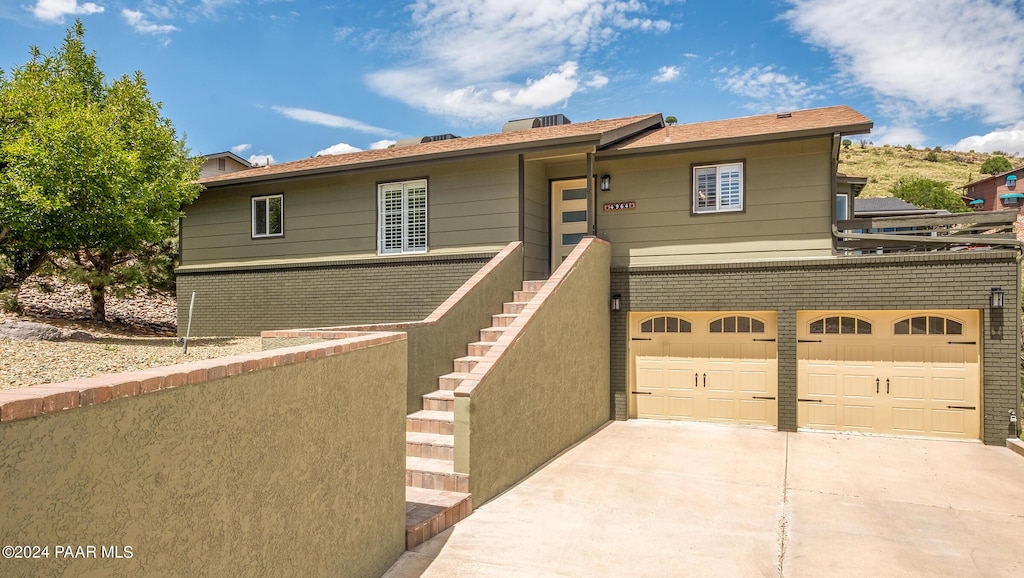
<svg viewBox="0 0 1024 578">
<path fill-rule="evenodd" d="M 746 70 L 721 69 L 718 72 L 722 76 L 716 79 L 716 83 L 750 99 L 745 108 L 755 113 L 804 109 L 819 97 L 819 87 L 808 86 L 800 77 L 777 72 L 773 66 Z"/>
</svg>

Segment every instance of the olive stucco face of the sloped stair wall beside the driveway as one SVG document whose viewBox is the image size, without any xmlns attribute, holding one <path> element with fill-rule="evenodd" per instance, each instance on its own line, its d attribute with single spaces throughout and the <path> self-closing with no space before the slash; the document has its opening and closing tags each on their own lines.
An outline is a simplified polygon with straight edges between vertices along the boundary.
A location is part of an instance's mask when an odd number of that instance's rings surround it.
<svg viewBox="0 0 1024 578">
<path fill-rule="evenodd" d="M 608 420 L 610 259 L 591 240 L 472 395 L 456 398 L 456 468 L 468 458 L 474 505 Z"/>
</svg>

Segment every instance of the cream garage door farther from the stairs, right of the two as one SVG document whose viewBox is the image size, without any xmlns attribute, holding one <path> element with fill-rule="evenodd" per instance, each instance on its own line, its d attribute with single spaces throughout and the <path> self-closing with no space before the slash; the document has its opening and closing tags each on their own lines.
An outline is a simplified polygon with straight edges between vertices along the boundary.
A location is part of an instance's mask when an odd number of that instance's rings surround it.
<svg viewBox="0 0 1024 578">
<path fill-rule="evenodd" d="M 979 438 L 978 313 L 800 312 L 801 427 Z"/>
</svg>

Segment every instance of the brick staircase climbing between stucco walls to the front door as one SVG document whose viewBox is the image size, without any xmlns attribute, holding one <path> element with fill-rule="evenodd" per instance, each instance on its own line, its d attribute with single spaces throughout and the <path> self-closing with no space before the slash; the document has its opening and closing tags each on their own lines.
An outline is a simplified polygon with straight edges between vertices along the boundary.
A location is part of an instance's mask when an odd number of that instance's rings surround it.
<svg viewBox="0 0 1024 578">
<path fill-rule="evenodd" d="M 455 471 L 455 388 L 483 359 L 505 328 L 529 302 L 544 281 L 524 281 L 480 340 L 455 360 L 454 371 L 437 379 L 439 388 L 423 396 L 423 409 L 406 417 L 406 547 L 443 532 L 473 510 L 469 474 Z"/>
</svg>

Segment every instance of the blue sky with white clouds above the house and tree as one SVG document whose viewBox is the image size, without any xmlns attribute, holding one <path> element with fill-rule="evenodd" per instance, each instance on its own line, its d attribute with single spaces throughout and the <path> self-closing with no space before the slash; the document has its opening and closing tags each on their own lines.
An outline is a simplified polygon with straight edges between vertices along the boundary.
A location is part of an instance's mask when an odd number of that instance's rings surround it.
<svg viewBox="0 0 1024 578">
<path fill-rule="evenodd" d="M 2 0 L 0 69 L 75 17 L 195 154 L 280 163 L 543 114 L 840 104 L 876 143 L 1024 153 L 1020 0 Z"/>
</svg>

